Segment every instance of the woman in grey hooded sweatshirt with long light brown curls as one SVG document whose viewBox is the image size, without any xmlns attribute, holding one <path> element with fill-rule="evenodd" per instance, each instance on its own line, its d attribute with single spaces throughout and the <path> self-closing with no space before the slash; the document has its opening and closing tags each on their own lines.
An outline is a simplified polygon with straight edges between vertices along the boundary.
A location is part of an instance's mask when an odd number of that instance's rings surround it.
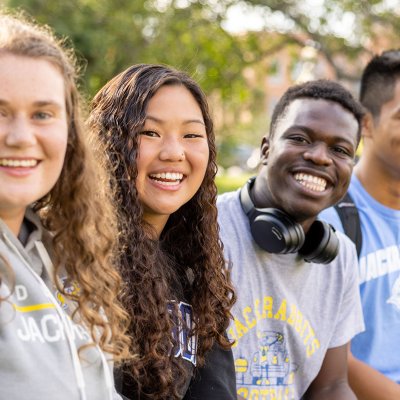
<svg viewBox="0 0 400 400">
<path fill-rule="evenodd" d="M 120 399 L 116 210 L 77 69 L 50 28 L 0 13 L 1 399 Z"/>
</svg>

